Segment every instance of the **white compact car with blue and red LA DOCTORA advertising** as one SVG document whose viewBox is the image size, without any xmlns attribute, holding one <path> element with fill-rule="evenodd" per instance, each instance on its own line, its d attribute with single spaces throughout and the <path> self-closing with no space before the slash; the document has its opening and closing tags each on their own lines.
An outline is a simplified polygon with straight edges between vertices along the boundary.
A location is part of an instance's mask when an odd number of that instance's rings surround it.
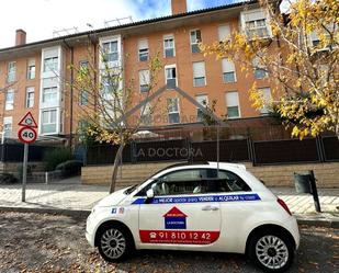
<svg viewBox="0 0 339 273">
<path fill-rule="evenodd" d="M 246 253 L 270 272 L 286 270 L 300 244 L 296 219 L 242 164 L 166 168 L 101 200 L 86 237 L 103 259 L 135 249 Z"/>
</svg>

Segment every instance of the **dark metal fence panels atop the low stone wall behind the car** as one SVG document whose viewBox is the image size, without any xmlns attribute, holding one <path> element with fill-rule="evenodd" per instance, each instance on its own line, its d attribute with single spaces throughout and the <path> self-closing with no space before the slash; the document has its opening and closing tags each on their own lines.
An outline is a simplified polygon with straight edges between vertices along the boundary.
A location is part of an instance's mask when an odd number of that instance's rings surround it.
<svg viewBox="0 0 339 273">
<path fill-rule="evenodd" d="M 87 151 L 87 164 L 112 164 L 117 146 L 98 145 Z M 123 150 L 123 162 L 216 161 L 217 141 L 173 140 L 133 141 Z M 282 140 L 221 139 L 219 161 L 251 161 L 253 164 L 339 161 L 337 137 Z"/>
</svg>

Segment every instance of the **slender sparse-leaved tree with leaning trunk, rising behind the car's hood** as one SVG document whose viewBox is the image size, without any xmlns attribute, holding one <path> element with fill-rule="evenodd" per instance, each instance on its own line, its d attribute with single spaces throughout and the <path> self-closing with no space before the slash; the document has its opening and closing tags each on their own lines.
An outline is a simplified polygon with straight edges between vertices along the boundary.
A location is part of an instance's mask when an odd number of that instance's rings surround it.
<svg viewBox="0 0 339 273">
<path fill-rule="evenodd" d="M 95 49 L 99 53 L 97 61 Z M 128 58 L 128 55 L 124 56 Z M 157 86 L 157 75 L 161 69 L 158 54 L 150 58 L 148 72 L 143 77 L 144 92 L 135 87 L 135 80 L 124 79 L 124 69 L 120 64 L 120 56 L 103 45 L 88 45 L 88 62 L 80 67 L 70 66 L 76 75 L 74 82 L 69 82 L 79 93 L 81 106 L 79 116 L 86 121 L 87 133 L 97 141 L 117 145 L 114 157 L 110 193 L 115 190 L 118 166 L 125 145 L 137 133 L 145 120 L 151 115 L 157 106 L 145 103 L 138 114 L 126 117 L 135 103 L 139 103 L 154 93 Z"/>
</svg>

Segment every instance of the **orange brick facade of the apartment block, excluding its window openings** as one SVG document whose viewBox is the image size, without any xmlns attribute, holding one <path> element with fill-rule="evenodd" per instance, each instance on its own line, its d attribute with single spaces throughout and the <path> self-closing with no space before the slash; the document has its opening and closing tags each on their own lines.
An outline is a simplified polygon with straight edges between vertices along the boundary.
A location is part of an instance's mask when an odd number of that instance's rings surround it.
<svg viewBox="0 0 339 273">
<path fill-rule="evenodd" d="M 93 48 L 98 46 L 101 41 L 110 41 L 110 37 L 117 37 L 121 48 L 121 57 L 123 59 L 122 66 L 124 68 L 125 81 L 134 79 L 134 92 L 139 96 L 139 71 L 147 69 L 147 61 L 138 60 L 138 45 L 140 39 L 147 39 L 149 57 L 159 52 L 160 61 L 163 66 L 158 76 L 158 86 L 166 84 L 165 68 L 169 65 L 176 65 L 178 86 L 187 91 L 191 96 L 205 95 L 208 102 L 215 100 L 216 113 L 218 115 L 226 115 L 227 101 L 226 95 L 229 92 L 237 92 L 238 95 L 238 112 L 239 117 L 256 117 L 260 113 L 251 107 L 249 101 L 248 89 L 255 81 L 253 75 L 246 77 L 246 72 L 241 71 L 239 64 L 235 64 L 235 82 L 225 83 L 223 80 L 223 61 L 216 60 L 214 56 L 203 56 L 201 53 L 192 53 L 191 49 L 191 31 L 199 30 L 201 39 L 205 44 L 211 44 L 219 39 L 219 27 L 229 27 L 230 32 L 240 31 L 241 12 L 246 9 L 253 9 L 258 11 L 258 3 L 256 1 L 244 4 L 230 4 L 222 8 L 212 8 L 204 11 L 183 13 L 187 9 L 183 0 L 172 0 L 172 16 L 155 19 L 146 22 L 137 22 L 128 25 L 122 25 L 112 29 L 98 30 L 89 33 L 80 33 L 63 38 L 54 38 L 49 41 L 42 41 L 32 44 L 23 44 L 23 32 L 18 37 L 21 45 L 11 48 L 0 49 L 0 87 L 7 87 L 9 64 L 15 62 L 15 81 L 9 88 L 14 90 L 14 105 L 13 110 L 5 110 L 5 92 L 0 93 L 1 117 L 0 124 L 3 125 L 4 117 L 12 117 L 12 136 L 16 135 L 18 122 L 25 112 L 31 111 L 36 117 L 39 125 L 42 125 L 42 116 L 49 122 L 44 129 L 39 128 L 41 134 L 45 135 L 61 135 L 67 136 L 77 132 L 78 122 L 81 118 L 81 106 L 79 105 L 79 93 L 77 90 L 71 90 L 65 82 L 59 82 L 57 86 L 58 100 L 57 103 L 42 105 L 42 89 L 50 87 L 47 81 L 59 81 L 66 79 L 71 80 L 71 72 L 68 69 L 70 65 L 79 66 L 81 60 L 88 59 L 88 39 L 93 42 Z M 142 35 L 140 35 L 142 34 Z M 165 38 L 171 35 L 174 39 L 173 57 L 165 57 Z M 18 42 L 18 43 L 19 43 Z M 270 50 L 274 54 L 276 45 L 272 43 Z M 57 64 L 58 76 L 45 72 L 41 68 L 42 64 L 49 59 L 53 61 L 56 57 L 59 61 Z M 98 59 L 98 58 L 97 58 Z M 35 78 L 27 79 L 27 68 L 30 60 L 35 61 Z M 193 66 L 195 62 L 203 62 L 205 70 L 205 84 L 202 87 L 194 87 Z M 200 64 L 201 65 L 201 64 Z M 54 79 L 53 79 L 54 78 Z M 269 79 L 257 80 L 259 88 L 273 88 L 273 83 Z M 49 86 L 48 86 L 49 84 Z M 34 87 L 34 105 L 27 107 L 26 105 L 26 89 Z M 233 93 L 235 95 L 235 93 Z M 167 91 L 161 95 L 161 101 L 156 107 L 156 114 L 163 118 L 155 120 L 151 125 L 167 125 L 167 99 L 177 98 L 178 94 L 173 91 Z M 233 96 L 234 98 L 234 96 Z M 234 99 L 233 99 L 234 100 Z M 137 100 L 138 101 L 138 100 Z M 137 101 L 134 103 L 136 104 Z M 53 113 L 43 113 L 53 111 Z M 190 123 L 196 121 L 196 106 L 187 100 L 179 98 L 179 115 L 180 123 Z M 55 117 L 57 116 L 57 117 Z M 57 124 L 52 124 L 56 120 Z M 49 126 L 49 127 L 48 127 Z M 53 129 L 50 128 L 53 127 Z M 3 126 L 2 126 L 3 127 Z M 42 127 L 42 126 L 39 126 Z"/>
</svg>

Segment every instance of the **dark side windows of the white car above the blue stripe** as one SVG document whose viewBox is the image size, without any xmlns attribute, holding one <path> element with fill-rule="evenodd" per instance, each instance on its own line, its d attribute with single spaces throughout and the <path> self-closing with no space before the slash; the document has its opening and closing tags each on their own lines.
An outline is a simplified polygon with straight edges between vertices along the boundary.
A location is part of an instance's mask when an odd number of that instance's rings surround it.
<svg viewBox="0 0 339 273">
<path fill-rule="evenodd" d="M 250 191 L 237 174 L 219 170 L 217 175 L 216 169 L 173 171 L 152 181 L 137 195 L 146 195 L 149 189 L 154 190 L 156 196 Z"/>
</svg>

